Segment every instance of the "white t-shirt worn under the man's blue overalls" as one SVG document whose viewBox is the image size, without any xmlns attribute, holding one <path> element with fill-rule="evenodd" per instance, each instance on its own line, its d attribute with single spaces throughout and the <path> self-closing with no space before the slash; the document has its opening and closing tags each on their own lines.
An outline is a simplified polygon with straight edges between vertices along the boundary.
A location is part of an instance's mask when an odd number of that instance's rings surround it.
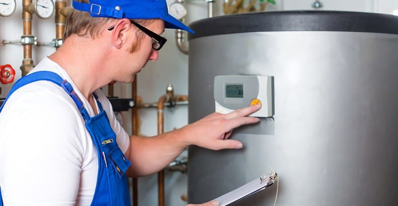
<svg viewBox="0 0 398 206">
<path fill-rule="evenodd" d="M 95 115 L 64 69 L 45 58 L 31 72 L 41 70 L 67 79 L 89 115 Z M 101 89 L 96 93 L 124 153 L 129 137 Z M 5 206 L 90 205 L 97 172 L 97 150 L 63 88 L 37 81 L 12 94 L 0 114 L 0 187 Z"/>
</svg>

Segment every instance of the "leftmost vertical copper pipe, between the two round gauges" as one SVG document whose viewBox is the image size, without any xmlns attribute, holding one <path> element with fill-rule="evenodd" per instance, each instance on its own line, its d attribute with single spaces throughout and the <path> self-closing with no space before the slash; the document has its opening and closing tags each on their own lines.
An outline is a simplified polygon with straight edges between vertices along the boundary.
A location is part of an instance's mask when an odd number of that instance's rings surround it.
<svg viewBox="0 0 398 206">
<path fill-rule="evenodd" d="M 24 36 L 32 35 L 32 12 L 30 8 L 32 5 L 32 0 L 23 0 L 22 1 L 22 20 L 23 20 L 23 28 L 24 28 Z M 20 67 L 22 71 L 22 76 L 25 76 L 32 70 L 34 67 L 32 60 L 32 45 L 27 44 L 24 45 L 24 59 L 22 60 L 22 65 Z"/>
</svg>

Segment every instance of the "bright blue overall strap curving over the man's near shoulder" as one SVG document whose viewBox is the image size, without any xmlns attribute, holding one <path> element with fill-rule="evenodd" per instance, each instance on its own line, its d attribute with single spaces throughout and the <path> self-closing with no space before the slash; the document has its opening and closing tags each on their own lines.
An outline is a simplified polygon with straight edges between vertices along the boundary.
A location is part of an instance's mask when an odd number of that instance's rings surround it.
<svg viewBox="0 0 398 206">
<path fill-rule="evenodd" d="M 69 83 L 67 80 L 62 79 L 58 74 L 51 72 L 51 71 L 37 71 L 37 72 L 31 73 L 29 75 L 26 75 L 26 76 L 20 78 L 17 82 L 15 82 L 14 86 L 11 88 L 10 92 L 8 93 L 6 100 L 4 100 L 2 107 L 0 107 L 0 112 L 2 112 L 4 105 L 6 105 L 8 98 L 11 96 L 11 94 L 14 91 L 16 91 L 18 88 L 20 88 L 26 84 L 29 84 L 31 82 L 42 81 L 42 80 L 51 81 L 51 82 L 61 86 L 75 101 L 75 104 L 78 107 L 83 118 L 86 121 L 90 118 L 86 109 L 83 107 L 82 100 L 79 98 L 79 96 L 73 90 L 72 84 Z"/>
</svg>

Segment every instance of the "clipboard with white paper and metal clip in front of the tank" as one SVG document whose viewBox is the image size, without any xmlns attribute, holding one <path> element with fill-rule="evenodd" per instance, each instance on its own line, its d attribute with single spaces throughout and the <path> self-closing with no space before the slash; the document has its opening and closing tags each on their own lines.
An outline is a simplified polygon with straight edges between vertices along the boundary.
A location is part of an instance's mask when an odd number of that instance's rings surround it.
<svg viewBox="0 0 398 206">
<path fill-rule="evenodd" d="M 266 175 L 256 178 L 241 187 L 217 197 L 216 199 L 220 202 L 220 206 L 230 205 L 233 202 L 271 186 L 275 181 L 275 177 L 276 173 L 269 171 Z"/>
</svg>

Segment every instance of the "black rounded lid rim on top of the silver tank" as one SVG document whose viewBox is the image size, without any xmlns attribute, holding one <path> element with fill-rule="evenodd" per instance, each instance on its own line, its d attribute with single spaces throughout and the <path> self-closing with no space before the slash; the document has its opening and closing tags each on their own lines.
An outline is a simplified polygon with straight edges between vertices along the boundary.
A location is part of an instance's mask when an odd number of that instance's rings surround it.
<svg viewBox="0 0 398 206">
<path fill-rule="evenodd" d="M 219 16 L 189 25 L 188 39 L 213 35 L 275 31 L 343 31 L 398 34 L 398 17 L 337 11 L 280 11 Z"/>
</svg>

